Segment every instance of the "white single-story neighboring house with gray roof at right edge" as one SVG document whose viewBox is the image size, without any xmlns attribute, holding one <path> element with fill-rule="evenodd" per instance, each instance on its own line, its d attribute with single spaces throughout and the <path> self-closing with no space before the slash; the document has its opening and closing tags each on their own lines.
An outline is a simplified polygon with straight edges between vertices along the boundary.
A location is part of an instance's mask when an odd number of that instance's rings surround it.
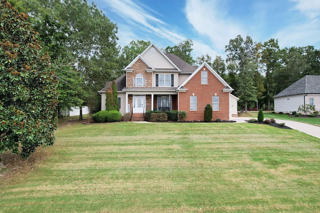
<svg viewBox="0 0 320 213">
<path fill-rule="evenodd" d="M 305 104 L 320 111 L 320 75 L 305 75 L 274 96 L 275 112 L 297 112 Z"/>
</svg>

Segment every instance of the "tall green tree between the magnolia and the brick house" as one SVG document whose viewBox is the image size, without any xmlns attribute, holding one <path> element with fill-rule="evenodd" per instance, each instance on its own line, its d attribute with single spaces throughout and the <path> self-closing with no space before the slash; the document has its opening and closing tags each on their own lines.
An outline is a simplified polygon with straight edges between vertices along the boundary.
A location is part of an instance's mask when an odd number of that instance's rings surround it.
<svg viewBox="0 0 320 213">
<path fill-rule="evenodd" d="M 85 104 L 92 100 L 92 95 L 98 99 L 97 91 L 105 81 L 116 77 L 117 27 L 96 5 L 89 5 L 86 0 L 63 0 L 58 12 L 70 29 L 68 48 L 79 77 L 83 78 L 81 87 L 86 92 L 82 97 Z M 95 108 L 98 110 L 99 106 L 97 104 Z"/>
</svg>

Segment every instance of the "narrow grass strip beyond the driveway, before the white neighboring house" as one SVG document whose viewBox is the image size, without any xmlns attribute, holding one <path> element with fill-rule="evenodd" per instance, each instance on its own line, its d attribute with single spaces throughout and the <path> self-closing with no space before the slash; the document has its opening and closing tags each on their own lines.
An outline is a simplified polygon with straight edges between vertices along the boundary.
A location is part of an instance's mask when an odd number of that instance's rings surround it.
<svg viewBox="0 0 320 213">
<path fill-rule="evenodd" d="M 297 121 L 302 123 L 307 123 L 315 126 L 320 126 L 320 118 L 314 117 L 289 117 L 286 114 L 278 114 L 278 113 L 270 113 L 270 112 L 263 112 L 264 119 L 274 118 L 275 120 L 290 120 L 290 121 Z M 257 118 L 258 112 L 257 111 L 250 111 L 247 113 L 241 113 L 240 116 L 243 117 L 250 117 L 250 118 Z"/>
</svg>

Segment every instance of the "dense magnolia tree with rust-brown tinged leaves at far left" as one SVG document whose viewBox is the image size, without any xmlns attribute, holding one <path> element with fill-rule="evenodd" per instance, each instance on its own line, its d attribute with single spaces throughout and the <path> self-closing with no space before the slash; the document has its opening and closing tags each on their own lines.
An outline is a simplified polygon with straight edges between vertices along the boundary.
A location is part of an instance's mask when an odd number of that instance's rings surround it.
<svg viewBox="0 0 320 213">
<path fill-rule="evenodd" d="M 0 14 L 0 153 L 17 153 L 21 146 L 27 158 L 54 143 L 57 81 L 28 15 L 6 0 Z"/>
</svg>

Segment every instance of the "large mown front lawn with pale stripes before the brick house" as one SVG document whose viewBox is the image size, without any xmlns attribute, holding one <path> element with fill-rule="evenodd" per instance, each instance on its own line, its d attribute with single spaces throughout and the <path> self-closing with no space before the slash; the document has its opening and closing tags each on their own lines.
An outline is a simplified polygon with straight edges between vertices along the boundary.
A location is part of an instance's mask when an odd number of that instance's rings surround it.
<svg viewBox="0 0 320 213">
<path fill-rule="evenodd" d="M 237 123 L 72 124 L 0 212 L 319 212 L 320 140 Z"/>
</svg>

